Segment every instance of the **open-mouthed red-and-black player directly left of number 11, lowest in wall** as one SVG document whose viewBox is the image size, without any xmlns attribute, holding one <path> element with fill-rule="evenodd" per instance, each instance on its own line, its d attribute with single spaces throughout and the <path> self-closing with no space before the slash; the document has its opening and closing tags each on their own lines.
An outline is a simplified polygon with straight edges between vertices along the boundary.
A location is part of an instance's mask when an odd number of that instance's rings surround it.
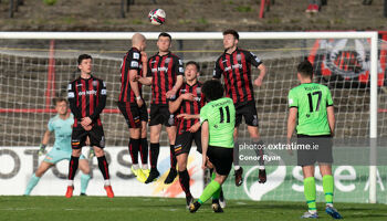
<svg viewBox="0 0 387 221">
<path fill-rule="evenodd" d="M 189 190 L 189 173 L 187 171 L 187 158 L 192 141 L 197 150 L 201 152 L 200 108 L 205 106 L 205 97 L 201 93 L 202 83 L 198 81 L 199 64 L 189 61 L 186 64 L 185 78 L 176 99 L 169 101 L 169 112 L 179 114 L 177 116 L 177 134 L 175 143 L 175 155 L 179 168 L 179 181 L 186 193 L 187 208 L 194 198 Z"/>
</svg>

